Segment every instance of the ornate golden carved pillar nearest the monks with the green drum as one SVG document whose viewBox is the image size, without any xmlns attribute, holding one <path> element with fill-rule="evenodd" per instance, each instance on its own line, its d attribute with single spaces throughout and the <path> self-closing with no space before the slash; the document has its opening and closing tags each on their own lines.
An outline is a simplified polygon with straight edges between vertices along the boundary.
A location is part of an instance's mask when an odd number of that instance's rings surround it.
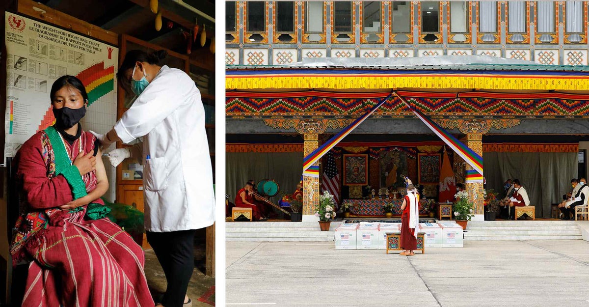
<svg viewBox="0 0 589 307">
<path fill-rule="evenodd" d="M 304 156 L 312 153 L 319 147 L 318 133 L 303 133 L 305 146 L 303 147 Z M 315 162 L 313 166 L 318 166 Z M 317 221 L 315 212 L 319 208 L 319 178 L 305 176 L 303 178 L 303 222 Z"/>
</svg>

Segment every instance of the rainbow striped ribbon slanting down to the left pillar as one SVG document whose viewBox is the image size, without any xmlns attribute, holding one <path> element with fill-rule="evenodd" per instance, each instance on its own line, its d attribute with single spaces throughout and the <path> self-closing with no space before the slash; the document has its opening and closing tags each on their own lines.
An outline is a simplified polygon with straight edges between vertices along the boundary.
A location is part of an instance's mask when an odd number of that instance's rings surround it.
<svg viewBox="0 0 589 307">
<path fill-rule="evenodd" d="M 330 138 L 329 141 L 327 141 L 325 144 L 319 146 L 319 148 L 314 150 L 312 153 L 308 154 L 305 157 L 305 159 L 303 159 L 303 175 L 319 178 L 319 168 L 317 167 L 316 171 L 312 170 L 311 167 L 313 166 L 313 164 L 319 161 L 321 157 L 323 157 L 327 152 L 329 152 L 333 147 L 335 147 L 337 143 L 343 140 L 343 138 L 348 136 L 348 134 L 352 132 L 352 130 L 354 130 L 356 127 L 362 124 L 362 122 L 366 120 L 366 118 L 372 115 L 372 113 L 374 113 L 381 105 L 383 105 L 385 101 L 391 98 L 392 95 L 393 93 L 386 96 L 383 100 L 381 100 L 378 104 L 376 104 L 368 112 L 366 112 L 366 114 L 357 118 L 352 124 L 350 124 L 348 127 L 344 128 L 342 131 L 340 131 L 335 136 Z"/>
</svg>

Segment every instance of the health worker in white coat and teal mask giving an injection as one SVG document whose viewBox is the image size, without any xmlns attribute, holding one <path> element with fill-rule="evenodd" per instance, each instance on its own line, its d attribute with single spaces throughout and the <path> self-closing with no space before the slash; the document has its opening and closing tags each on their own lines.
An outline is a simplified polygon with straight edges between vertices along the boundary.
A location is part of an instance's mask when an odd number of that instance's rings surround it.
<svg viewBox="0 0 589 307">
<path fill-rule="evenodd" d="M 158 62 L 166 51 L 132 50 L 117 73 L 118 82 L 137 95 L 131 108 L 106 134 L 104 148 L 143 138 L 143 146 L 110 153 L 111 164 L 142 156 L 145 230 L 168 282 L 161 305 L 187 306 L 194 269 L 194 233 L 213 225 L 213 171 L 204 127 L 204 107 L 194 81 Z"/>
</svg>

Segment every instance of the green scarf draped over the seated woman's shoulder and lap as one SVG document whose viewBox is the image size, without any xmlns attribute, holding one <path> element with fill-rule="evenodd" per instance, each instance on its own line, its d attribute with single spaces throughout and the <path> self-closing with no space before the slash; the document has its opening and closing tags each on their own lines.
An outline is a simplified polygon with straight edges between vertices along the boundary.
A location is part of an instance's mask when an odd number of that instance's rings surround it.
<svg viewBox="0 0 589 307">
<path fill-rule="evenodd" d="M 87 196 L 86 184 L 84 183 L 84 180 L 82 180 L 80 170 L 78 170 L 78 167 L 71 164 L 70 157 L 65 150 L 65 144 L 61 141 L 61 137 L 59 137 L 59 132 L 55 130 L 53 126 L 49 126 L 45 129 L 45 133 L 47 133 L 47 136 L 49 137 L 49 142 L 51 143 L 55 156 L 55 176 L 62 175 L 65 177 L 65 180 L 67 180 L 70 185 L 74 199 Z M 79 212 L 82 209 L 83 207 L 80 206 L 70 210 L 70 212 Z M 86 209 L 86 217 L 91 220 L 98 220 L 106 217 L 109 212 L 110 208 L 107 206 L 98 203 L 90 203 Z"/>
</svg>

